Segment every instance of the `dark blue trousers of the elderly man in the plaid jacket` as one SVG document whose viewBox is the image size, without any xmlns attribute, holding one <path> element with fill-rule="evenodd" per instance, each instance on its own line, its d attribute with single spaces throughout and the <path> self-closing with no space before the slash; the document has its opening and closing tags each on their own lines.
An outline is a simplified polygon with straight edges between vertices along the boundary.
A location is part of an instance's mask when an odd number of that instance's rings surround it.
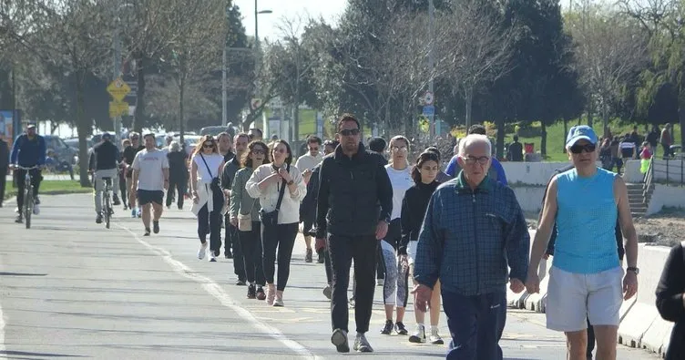
<svg viewBox="0 0 685 360">
<path fill-rule="evenodd" d="M 506 292 L 464 296 L 443 290 L 452 341 L 448 360 L 502 360 L 499 339 L 506 323 Z"/>
</svg>

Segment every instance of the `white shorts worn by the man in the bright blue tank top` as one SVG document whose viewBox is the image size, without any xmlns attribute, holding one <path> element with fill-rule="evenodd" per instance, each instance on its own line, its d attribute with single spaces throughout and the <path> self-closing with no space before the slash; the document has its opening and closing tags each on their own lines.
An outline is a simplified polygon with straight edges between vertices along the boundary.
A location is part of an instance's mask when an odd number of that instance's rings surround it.
<svg viewBox="0 0 685 360">
<path fill-rule="evenodd" d="M 601 273 L 568 273 L 549 270 L 547 329 L 576 332 L 593 325 L 619 325 L 623 303 L 623 268 Z"/>
</svg>

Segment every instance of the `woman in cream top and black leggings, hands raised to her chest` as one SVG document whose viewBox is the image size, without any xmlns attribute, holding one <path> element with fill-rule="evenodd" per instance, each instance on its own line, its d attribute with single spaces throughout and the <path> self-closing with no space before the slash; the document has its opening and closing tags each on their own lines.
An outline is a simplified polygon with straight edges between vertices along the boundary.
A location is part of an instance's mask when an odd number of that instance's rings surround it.
<svg viewBox="0 0 685 360">
<path fill-rule="evenodd" d="M 288 283 L 291 268 L 292 247 L 295 244 L 300 223 L 300 202 L 307 193 L 300 170 L 291 166 L 292 150 L 285 140 L 277 140 L 271 149 L 271 164 L 261 165 L 254 170 L 245 189 L 252 198 L 260 198 L 261 210 L 276 210 L 281 188 L 283 198 L 278 211 L 278 225 L 267 226 L 262 219 L 261 244 L 264 276 L 266 277 L 266 303 L 283 306 L 283 290 Z M 276 248 L 278 247 L 278 285 L 274 286 L 276 272 Z"/>
</svg>

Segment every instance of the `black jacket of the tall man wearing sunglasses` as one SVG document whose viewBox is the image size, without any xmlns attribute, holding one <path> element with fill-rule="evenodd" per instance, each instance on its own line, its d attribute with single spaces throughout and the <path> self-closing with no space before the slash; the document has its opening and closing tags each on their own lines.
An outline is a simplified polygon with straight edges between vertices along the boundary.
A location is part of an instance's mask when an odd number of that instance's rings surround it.
<svg viewBox="0 0 685 360">
<path fill-rule="evenodd" d="M 327 233 L 361 236 L 375 233 L 378 221 L 390 222 L 393 186 L 382 157 L 364 149 L 352 158 L 342 146 L 323 158 L 319 175 L 316 237 Z"/>
</svg>

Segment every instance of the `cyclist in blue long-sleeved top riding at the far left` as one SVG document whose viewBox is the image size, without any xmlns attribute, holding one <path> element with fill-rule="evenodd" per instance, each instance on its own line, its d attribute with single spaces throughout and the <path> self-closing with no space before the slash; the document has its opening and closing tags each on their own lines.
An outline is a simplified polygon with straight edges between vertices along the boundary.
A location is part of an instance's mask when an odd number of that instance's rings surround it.
<svg viewBox="0 0 685 360">
<path fill-rule="evenodd" d="M 26 133 L 20 135 L 14 146 L 12 147 L 12 155 L 10 155 L 11 167 L 14 169 L 15 182 L 18 188 L 16 194 L 16 216 L 15 222 L 22 222 L 24 208 L 24 178 L 26 177 L 26 170 L 17 169 L 17 165 L 23 168 L 42 167 L 46 163 L 46 139 L 36 134 L 36 124 L 28 124 Z M 38 188 L 40 187 L 40 180 L 43 177 L 40 175 L 40 169 L 30 170 L 31 182 L 34 186 L 34 213 L 37 215 L 38 210 Z"/>
</svg>

